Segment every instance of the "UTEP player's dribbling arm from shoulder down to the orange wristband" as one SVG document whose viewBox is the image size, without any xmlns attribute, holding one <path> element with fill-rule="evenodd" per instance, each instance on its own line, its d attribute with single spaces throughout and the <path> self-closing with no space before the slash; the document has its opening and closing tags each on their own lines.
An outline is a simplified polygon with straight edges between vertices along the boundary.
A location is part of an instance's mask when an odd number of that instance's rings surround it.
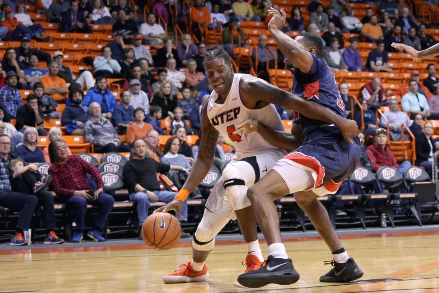
<svg viewBox="0 0 439 293">
<path fill-rule="evenodd" d="M 215 156 L 215 149 L 217 147 L 218 131 L 212 126 L 207 117 L 207 103 L 205 103 L 201 110 L 201 128 L 202 135 L 200 141 L 200 150 L 197 160 L 192 165 L 189 176 L 186 179 L 182 188 L 192 192 L 206 177 L 213 164 Z"/>
</svg>

